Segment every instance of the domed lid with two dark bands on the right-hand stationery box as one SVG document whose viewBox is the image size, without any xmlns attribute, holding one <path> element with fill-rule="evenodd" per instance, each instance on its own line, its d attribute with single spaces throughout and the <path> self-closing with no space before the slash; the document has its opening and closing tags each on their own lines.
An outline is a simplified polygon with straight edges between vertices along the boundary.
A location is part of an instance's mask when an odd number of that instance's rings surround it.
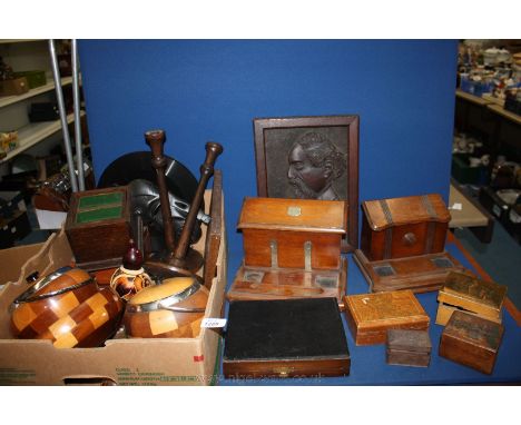
<svg viewBox="0 0 521 425">
<path fill-rule="evenodd" d="M 451 220 L 451 215 L 438 194 L 366 200 L 362 202 L 362 209 L 373 230 L 413 223 Z"/>
</svg>

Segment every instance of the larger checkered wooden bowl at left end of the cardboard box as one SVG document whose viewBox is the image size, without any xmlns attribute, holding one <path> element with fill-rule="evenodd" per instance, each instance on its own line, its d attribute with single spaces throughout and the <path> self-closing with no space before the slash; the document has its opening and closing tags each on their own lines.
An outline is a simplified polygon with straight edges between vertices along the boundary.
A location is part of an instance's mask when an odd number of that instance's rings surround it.
<svg viewBox="0 0 521 425">
<path fill-rule="evenodd" d="M 90 275 L 63 267 L 37 280 L 11 305 L 11 330 L 23 339 L 50 339 L 57 348 L 97 347 L 116 330 L 124 305 Z"/>
</svg>

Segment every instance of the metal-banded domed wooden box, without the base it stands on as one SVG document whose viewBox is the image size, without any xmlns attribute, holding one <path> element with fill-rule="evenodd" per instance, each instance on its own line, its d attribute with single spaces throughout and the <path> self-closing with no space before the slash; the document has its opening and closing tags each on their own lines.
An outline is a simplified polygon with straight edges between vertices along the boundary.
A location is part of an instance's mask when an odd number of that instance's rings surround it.
<svg viewBox="0 0 521 425">
<path fill-rule="evenodd" d="M 362 202 L 361 249 L 371 261 L 441 253 L 451 215 L 438 194 Z"/>
</svg>

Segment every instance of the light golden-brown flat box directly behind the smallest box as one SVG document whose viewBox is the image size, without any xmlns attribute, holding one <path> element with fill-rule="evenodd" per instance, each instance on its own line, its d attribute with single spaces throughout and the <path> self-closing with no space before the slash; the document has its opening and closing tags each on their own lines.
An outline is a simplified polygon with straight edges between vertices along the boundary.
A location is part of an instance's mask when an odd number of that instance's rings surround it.
<svg viewBox="0 0 521 425">
<path fill-rule="evenodd" d="M 344 305 L 356 345 L 385 344 L 389 329 L 429 328 L 429 316 L 409 289 L 347 295 Z"/>
</svg>

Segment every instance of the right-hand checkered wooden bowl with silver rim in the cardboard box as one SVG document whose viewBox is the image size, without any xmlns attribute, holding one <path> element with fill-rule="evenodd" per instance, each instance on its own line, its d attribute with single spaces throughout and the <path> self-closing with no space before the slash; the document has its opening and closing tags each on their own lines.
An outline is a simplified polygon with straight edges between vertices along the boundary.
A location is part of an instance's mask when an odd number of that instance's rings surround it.
<svg viewBox="0 0 521 425">
<path fill-rule="evenodd" d="M 206 289 L 194 277 L 165 279 L 127 303 L 124 324 L 132 338 L 194 338 L 208 302 Z"/>
</svg>

